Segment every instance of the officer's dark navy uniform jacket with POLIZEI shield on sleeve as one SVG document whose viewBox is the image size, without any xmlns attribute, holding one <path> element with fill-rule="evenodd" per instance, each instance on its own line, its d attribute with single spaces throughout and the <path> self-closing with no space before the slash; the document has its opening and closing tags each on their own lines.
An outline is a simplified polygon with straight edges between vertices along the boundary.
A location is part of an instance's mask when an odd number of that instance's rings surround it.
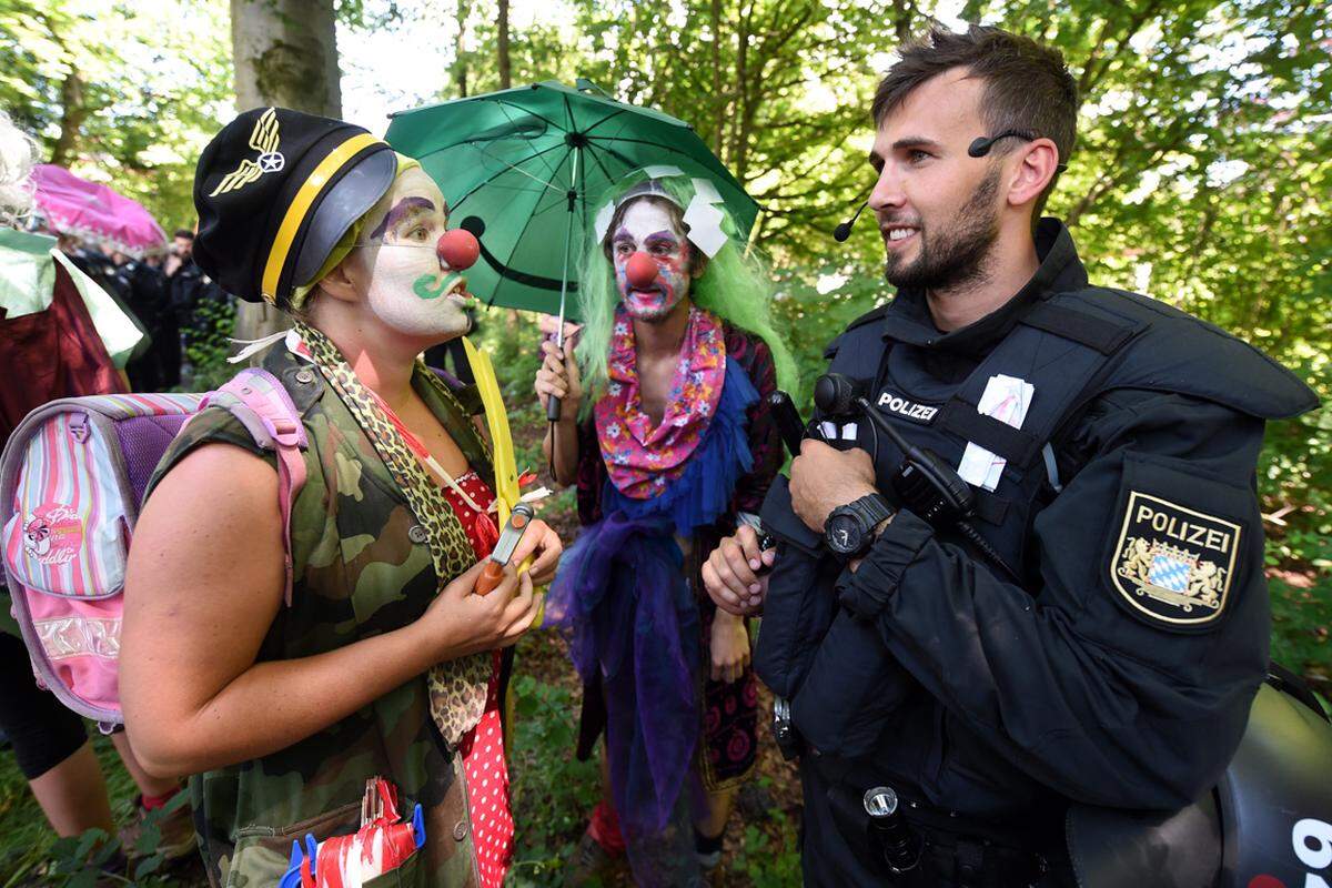
<svg viewBox="0 0 1332 888">
<path fill-rule="evenodd" d="M 923 294 L 902 292 L 829 350 L 836 366 L 839 347 L 872 329 L 882 347 L 862 366 L 891 347 L 923 387 L 946 387 L 1036 306 L 1132 330 L 1071 402 L 1030 510 L 1008 513 L 1023 523 L 1020 584 L 907 510 L 852 574 L 818 550 L 783 486 L 765 503 L 779 559 L 755 666 L 806 743 L 806 872 L 821 884 L 872 880 L 860 795 L 876 784 L 920 811 L 1047 836 L 1068 799 L 1183 805 L 1228 763 L 1265 672 L 1255 465 L 1264 419 L 1316 398 L 1216 328 L 1090 288 L 1058 221 L 1036 240 L 1038 274 L 980 321 L 940 333 Z M 1059 371 L 1019 375 L 1039 399 Z M 908 438 L 934 434 L 920 421 L 930 407 L 876 398 L 914 419 L 900 426 Z M 876 465 L 890 499 L 891 469 Z"/>
</svg>

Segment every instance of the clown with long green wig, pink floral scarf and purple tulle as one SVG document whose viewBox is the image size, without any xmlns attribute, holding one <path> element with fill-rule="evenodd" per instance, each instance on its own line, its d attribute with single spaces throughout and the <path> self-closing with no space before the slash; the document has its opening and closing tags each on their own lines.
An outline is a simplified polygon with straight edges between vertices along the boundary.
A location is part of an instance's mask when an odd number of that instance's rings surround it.
<svg viewBox="0 0 1332 888">
<path fill-rule="evenodd" d="M 757 752 L 743 618 L 699 568 L 757 513 L 782 463 L 767 395 L 794 383 L 769 280 L 707 178 L 657 166 L 599 206 L 575 354 L 543 343 L 535 390 L 562 401 L 545 449 L 583 531 L 546 623 L 583 682 L 578 755 L 603 736 L 609 785 L 566 884 L 627 852 L 639 885 L 703 884 Z"/>
</svg>

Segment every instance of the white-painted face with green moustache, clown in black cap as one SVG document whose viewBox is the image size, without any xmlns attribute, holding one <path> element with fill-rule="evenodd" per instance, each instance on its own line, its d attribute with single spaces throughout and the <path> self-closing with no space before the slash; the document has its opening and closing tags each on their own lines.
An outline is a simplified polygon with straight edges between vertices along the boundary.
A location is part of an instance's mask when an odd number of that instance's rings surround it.
<svg viewBox="0 0 1332 888">
<path fill-rule="evenodd" d="M 436 252 L 448 220 L 440 188 L 425 170 L 409 169 L 366 216 L 358 248 L 374 316 L 394 330 L 440 342 L 470 326 L 466 278 Z"/>
</svg>

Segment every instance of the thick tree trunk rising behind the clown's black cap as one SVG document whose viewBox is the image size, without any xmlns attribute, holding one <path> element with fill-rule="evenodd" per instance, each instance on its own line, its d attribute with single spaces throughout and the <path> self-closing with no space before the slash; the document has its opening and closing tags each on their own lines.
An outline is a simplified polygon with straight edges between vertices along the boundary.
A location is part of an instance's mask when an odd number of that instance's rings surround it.
<svg viewBox="0 0 1332 888">
<path fill-rule="evenodd" d="M 325 117 L 342 113 L 333 0 L 230 0 L 236 109 L 281 105 Z M 290 326 L 266 304 L 241 302 L 236 338 Z"/>
</svg>

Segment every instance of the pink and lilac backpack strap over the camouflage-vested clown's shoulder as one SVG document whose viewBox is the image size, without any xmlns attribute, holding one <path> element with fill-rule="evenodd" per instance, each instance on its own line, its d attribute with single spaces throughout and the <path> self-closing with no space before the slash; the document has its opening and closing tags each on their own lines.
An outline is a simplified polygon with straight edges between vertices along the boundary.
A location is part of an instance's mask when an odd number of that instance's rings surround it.
<svg viewBox="0 0 1332 888">
<path fill-rule="evenodd" d="M 277 454 L 277 505 L 282 513 L 282 562 L 286 571 L 285 600 L 292 606 L 292 503 L 305 485 L 305 458 L 309 447 L 301 414 L 286 387 L 268 370 L 245 367 L 230 382 L 210 391 L 200 405 L 222 407 L 236 417 L 254 443 Z"/>
</svg>

